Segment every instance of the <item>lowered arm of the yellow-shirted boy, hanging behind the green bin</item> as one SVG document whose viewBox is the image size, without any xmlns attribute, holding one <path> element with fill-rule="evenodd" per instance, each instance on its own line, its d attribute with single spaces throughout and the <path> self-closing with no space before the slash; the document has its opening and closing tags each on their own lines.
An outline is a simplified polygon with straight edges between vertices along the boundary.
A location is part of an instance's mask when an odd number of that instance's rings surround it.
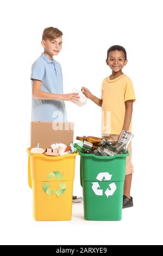
<svg viewBox="0 0 163 256">
<path fill-rule="evenodd" d="M 125 102 L 125 107 L 126 107 L 126 111 L 124 115 L 124 124 L 123 124 L 122 130 L 128 131 L 131 123 L 132 113 L 133 113 L 133 100 L 127 100 Z"/>
</svg>

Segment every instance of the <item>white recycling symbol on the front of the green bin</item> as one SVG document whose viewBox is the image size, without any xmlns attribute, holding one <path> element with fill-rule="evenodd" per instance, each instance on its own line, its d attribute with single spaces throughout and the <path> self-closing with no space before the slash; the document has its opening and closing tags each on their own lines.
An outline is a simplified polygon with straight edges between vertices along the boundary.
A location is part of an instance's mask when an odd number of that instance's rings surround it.
<svg viewBox="0 0 163 256">
<path fill-rule="evenodd" d="M 112 174 L 109 173 L 98 173 L 96 180 L 102 181 L 103 178 L 105 178 L 104 180 L 111 180 L 111 176 Z M 98 182 L 91 182 L 92 183 L 92 190 L 93 192 L 97 195 L 97 196 L 103 196 L 103 190 L 99 189 L 100 186 L 98 184 Z M 105 190 L 105 195 L 106 197 L 112 196 L 114 194 L 114 192 L 116 191 L 116 185 L 115 182 L 112 182 L 111 184 L 109 184 L 109 187 L 106 188 Z"/>
</svg>

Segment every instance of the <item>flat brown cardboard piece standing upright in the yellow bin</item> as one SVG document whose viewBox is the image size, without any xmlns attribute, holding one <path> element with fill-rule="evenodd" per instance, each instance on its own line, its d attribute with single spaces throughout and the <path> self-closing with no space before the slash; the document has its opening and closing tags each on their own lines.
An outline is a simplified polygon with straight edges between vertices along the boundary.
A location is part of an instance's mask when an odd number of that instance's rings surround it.
<svg viewBox="0 0 163 256">
<path fill-rule="evenodd" d="M 53 143 L 73 143 L 74 123 L 32 121 L 30 128 L 30 148 L 35 148 L 37 143 L 43 149 Z"/>
</svg>

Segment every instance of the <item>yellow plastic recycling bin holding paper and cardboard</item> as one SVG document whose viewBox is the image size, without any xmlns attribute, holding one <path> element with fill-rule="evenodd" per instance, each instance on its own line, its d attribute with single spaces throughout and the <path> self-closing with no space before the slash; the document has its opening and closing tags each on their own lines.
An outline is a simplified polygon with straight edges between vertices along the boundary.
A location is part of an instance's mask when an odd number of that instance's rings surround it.
<svg viewBox="0 0 163 256">
<path fill-rule="evenodd" d="M 72 217 L 72 192 L 76 154 L 45 156 L 27 149 L 28 181 L 33 188 L 36 221 L 68 221 Z"/>
</svg>

